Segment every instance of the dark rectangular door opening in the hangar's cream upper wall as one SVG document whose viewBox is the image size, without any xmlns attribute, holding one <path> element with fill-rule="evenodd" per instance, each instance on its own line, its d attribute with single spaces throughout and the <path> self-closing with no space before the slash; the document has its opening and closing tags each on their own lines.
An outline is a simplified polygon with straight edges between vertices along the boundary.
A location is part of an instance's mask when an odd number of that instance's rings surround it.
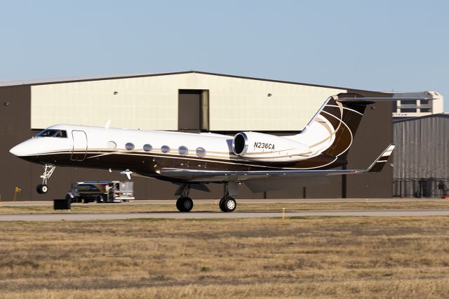
<svg viewBox="0 0 449 299">
<path fill-rule="evenodd" d="M 177 128 L 187 132 L 209 130 L 209 91 L 179 90 Z"/>
</svg>

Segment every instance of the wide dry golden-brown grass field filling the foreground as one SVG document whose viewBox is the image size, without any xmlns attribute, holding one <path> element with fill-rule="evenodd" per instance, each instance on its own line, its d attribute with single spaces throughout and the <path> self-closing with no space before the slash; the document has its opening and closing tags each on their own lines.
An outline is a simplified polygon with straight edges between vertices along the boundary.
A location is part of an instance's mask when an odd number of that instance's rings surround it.
<svg viewBox="0 0 449 299">
<path fill-rule="evenodd" d="M 447 298 L 449 218 L 0 222 L 0 298 Z"/>
</svg>

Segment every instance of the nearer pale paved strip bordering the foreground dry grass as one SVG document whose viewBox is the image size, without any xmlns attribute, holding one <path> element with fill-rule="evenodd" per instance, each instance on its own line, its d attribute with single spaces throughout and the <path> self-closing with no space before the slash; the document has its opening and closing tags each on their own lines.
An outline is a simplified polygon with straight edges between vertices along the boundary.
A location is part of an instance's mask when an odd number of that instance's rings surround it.
<svg viewBox="0 0 449 299">
<path fill-rule="evenodd" d="M 449 209 L 410 209 L 410 210 L 319 210 L 286 212 L 286 217 L 309 216 L 449 216 Z M 145 212 L 145 213 L 51 213 L 51 214 L 5 214 L 0 221 L 60 221 L 60 220 L 119 220 L 139 218 L 163 219 L 229 219 L 229 218 L 280 218 L 282 212 Z"/>
</svg>

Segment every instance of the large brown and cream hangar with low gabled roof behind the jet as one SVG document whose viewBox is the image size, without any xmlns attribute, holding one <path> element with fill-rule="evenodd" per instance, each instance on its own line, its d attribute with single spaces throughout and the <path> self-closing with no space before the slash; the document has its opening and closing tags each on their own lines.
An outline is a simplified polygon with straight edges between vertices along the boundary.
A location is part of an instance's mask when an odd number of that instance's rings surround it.
<svg viewBox="0 0 449 299">
<path fill-rule="evenodd" d="M 8 150 L 53 124 L 82 124 L 141 130 L 210 131 L 234 135 L 260 131 L 276 135 L 302 131 L 331 95 L 358 93 L 391 97 L 392 93 L 297 82 L 238 77 L 206 72 L 142 74 L 0 84 L 1 199 L 62 198 L 71 182 L 126 180 L 119 173 L 98 169 L 56 168 L 48 194 L 37 194 L 43 167 L 14 157 Z M 392 140 L 390 102 L 366 110 L 349 152 L 347 168 L 366 168 Z M 237 198 L 391 197 L 392 168 L 382 173 L 335 176 L 330 184 L 293 190 L 251 193 L 241 187 Z M 175 185 L 133 178 L 138 199 L 173 199 Z M 193 198 L 222 197 L 222 185 L 212 194 L 192 191 Z"/>
</svg>

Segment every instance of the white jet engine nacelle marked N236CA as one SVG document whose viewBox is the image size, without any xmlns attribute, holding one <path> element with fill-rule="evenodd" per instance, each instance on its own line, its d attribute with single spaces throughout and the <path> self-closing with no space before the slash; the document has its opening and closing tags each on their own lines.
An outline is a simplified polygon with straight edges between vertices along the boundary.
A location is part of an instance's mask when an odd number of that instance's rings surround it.
<svg viewBox="0 0 449 299">
<path fill-rule="evenodd" d="M 247 160 L 266 162 L 300 161 L 311 154 L 309 147 L 300 142 L 256 132 L 237 133 L 232 140 L 232 151 Z"/>
</svg>

